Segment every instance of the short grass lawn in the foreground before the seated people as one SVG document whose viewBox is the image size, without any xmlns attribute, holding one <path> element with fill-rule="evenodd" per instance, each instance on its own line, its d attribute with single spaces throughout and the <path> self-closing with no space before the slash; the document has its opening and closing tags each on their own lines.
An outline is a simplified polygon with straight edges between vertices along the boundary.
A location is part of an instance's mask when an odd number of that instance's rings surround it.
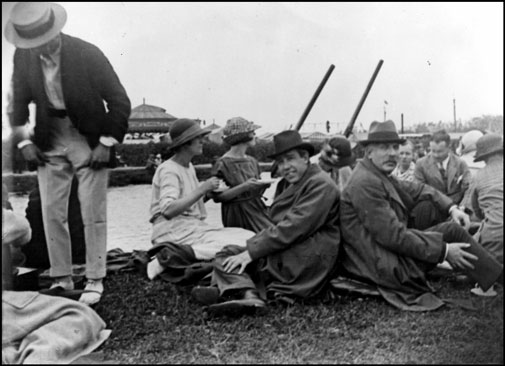
<svg viewBox="0 0 505 366">
<path fill-rule="evenodd" d="M 503 288 L 477 298 L 455 276 L 433 282 L 439 296 L 476 311 L 406 312 L 381 298 L 335 294 L 261 316 L 207 318 L 190 288 L 135 272 L 104 284 L 95 310 L 112 334 L 97 351 L 117 363 L 503 364 Z"/>
</svg>

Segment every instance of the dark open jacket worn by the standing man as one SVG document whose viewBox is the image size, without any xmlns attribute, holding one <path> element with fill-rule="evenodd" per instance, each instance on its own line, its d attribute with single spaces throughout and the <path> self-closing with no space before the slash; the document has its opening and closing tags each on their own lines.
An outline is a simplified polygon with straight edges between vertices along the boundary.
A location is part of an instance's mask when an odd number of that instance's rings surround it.
<svg viewBox="0 0 505 366">
<path fill-rule="evenodd" d="M 63 33 L 61 37 L 61 84 L 70 120 L 92 148 L 102 135 L 122 142 L 131 104 L 114 69 L 98 47 Z M 28 49 L 16 49 L 11 124 L 24 125 L 29 115 L 28 104 L 35 102 L 32 139 L 42 151 L 47 151 L 51 148 L 51 129 L 43 78 L 39 56 Z"/>
</svg>

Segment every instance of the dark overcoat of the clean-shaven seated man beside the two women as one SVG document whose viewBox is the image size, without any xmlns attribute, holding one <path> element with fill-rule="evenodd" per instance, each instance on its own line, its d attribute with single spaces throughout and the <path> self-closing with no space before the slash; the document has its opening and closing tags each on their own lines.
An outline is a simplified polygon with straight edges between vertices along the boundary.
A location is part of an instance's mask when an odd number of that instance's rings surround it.
<svg viewBox="0 0 505 366">
<path fill-rule="evenodd" d="M 297 183 L 279 182 L 273 225 L 247 241 L 252 259 L 264 258 L 267 293 L 307 298 L 327 284 L 340 247 L 339 201 L 335 182 L 314 164 Z"/>
</svg>

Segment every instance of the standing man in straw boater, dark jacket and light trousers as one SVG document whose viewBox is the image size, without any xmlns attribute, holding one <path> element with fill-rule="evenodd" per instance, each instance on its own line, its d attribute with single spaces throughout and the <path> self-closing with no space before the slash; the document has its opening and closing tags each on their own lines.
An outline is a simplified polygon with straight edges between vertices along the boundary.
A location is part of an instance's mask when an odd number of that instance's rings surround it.
<svg viewBox="0 0 505 366">
<path fill-rule="evenodd" d="M 11 125 L 24 158 L 37 168 L 52 288 L 74 287 L 67 218 L 72 178 L 78 178 L 88 279 L 80 301 L 91 305 L 100 300 L 106 274 L 106 168 L 126 133 L 131 105 L 104 54 L 61 32 L 66 20 L 55 3 L 13 7 L 5 28 L 16 46 Z M 33 136 L 25 130 L 30 102 L 37 110 Z"/>
</svg>

